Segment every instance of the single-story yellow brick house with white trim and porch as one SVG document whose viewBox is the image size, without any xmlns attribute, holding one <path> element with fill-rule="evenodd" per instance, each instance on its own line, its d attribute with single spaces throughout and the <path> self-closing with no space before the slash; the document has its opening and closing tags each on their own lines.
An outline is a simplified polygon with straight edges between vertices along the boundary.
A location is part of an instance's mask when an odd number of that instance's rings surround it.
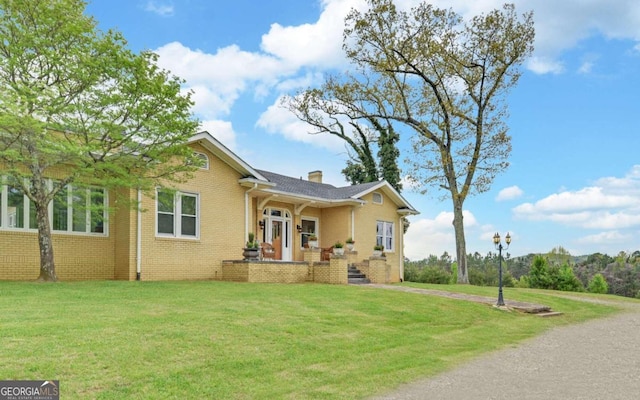
<svg viewBox="0 0 640 400">
<path fill-rule="evenodd" d="M 52 202 L 59 279 L 223 280 L 223 264 L 242 259 L 249 232 L 274 248 L 269 261 L 261 260 L 263 274 L 308 263 L 315 235 L 320 248 L 353 238 L 349 260 L 366 260 L 383 244 L 386 280 L 402 279 L 402 217 L 417 211 L 387 182 L 335 187 L 322 182 L 320 171 L 302 179 L 254 169 L 207 132 L 194 135 L 190 146 L 205 162 L 176 192 L 123 192 L 140 202 L 139 210 L 120 207 L 117 196 L 99 187 L 71 185 Z M 0 279 L 35 279 L 33 207 L 16 188 L 0 189 Z M 110 206 L 102 214 L 77 207 L 95 193 Z"/>
</svg>

